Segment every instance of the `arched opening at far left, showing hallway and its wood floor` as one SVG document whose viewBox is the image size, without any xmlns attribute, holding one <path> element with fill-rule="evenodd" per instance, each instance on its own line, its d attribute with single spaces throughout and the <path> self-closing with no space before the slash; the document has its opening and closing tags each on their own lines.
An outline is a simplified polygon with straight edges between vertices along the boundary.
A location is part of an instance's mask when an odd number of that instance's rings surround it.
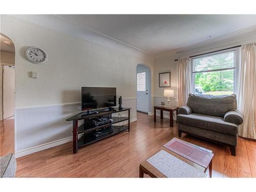
<svg viewBox="0 0 256 192">
<path fill-rule="evenodd" d="M 0 33 L 0 156 L 14 153 L 14 109 L 15 109 L 15 48 L 13 41 Z"/>
</svg>

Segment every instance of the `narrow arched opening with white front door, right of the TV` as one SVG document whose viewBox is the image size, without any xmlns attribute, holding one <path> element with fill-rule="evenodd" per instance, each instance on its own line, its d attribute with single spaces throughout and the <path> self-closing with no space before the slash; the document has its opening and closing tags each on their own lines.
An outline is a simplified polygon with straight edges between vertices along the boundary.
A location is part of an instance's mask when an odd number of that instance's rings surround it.
<svg viewBox="0 0 256 192">
<path fill-rule="evenodd" d="M 145 64 L 136 67 L 137 111 L 151 114 L 151 69 Z"/>
</svg>

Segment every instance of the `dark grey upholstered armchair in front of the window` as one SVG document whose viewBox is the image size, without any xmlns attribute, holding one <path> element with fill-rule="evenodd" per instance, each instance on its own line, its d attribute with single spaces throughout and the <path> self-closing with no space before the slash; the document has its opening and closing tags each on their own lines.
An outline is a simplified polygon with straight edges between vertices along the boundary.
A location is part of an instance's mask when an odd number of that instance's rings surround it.
<svg viewBox="0 0 256 192">
<path fill-rule="evenodd" d="M 229 146 L 231 155 L 236 156 L 238 125 L 243 115 L 237 110 L 236 95 L 189 94 L 185 106 L 177 115 L 178 135 L 190 134 Z"/>
</svg>

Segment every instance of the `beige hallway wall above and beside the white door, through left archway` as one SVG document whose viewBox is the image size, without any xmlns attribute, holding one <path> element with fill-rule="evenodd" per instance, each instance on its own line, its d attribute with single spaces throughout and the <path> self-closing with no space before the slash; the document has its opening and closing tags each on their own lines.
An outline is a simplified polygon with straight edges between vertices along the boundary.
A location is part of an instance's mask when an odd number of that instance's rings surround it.
<svg viewBox="0 0 256 192">
<path fill-rule="evenodd" d="M 3 109 L 3 103 L 2 103 L 2 97 L 3 97 L 3 82 L 2 82 L 2 67 L 3 65 L 9 65 L 9 66 L 14 66 L 15 64 L 15 54 L 14 53 L 9 53 L 9 52 L 4 52 L 0 51 L 0 120 L 2 120 L 2 109 Z"/>
</svg>

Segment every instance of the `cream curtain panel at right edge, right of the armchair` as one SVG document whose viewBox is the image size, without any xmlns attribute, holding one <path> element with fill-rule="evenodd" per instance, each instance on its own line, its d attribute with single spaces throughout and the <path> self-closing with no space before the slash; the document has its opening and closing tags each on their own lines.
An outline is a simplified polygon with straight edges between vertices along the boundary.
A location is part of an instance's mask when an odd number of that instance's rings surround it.
<svg viewBox="0 0 256 192">
<path fill-rule="evenodd" d="M 242 46 L 238 68 L 238 110 L 244 115 L 239 135 L 256 139 L 256 45 Z"/>
</svg>

